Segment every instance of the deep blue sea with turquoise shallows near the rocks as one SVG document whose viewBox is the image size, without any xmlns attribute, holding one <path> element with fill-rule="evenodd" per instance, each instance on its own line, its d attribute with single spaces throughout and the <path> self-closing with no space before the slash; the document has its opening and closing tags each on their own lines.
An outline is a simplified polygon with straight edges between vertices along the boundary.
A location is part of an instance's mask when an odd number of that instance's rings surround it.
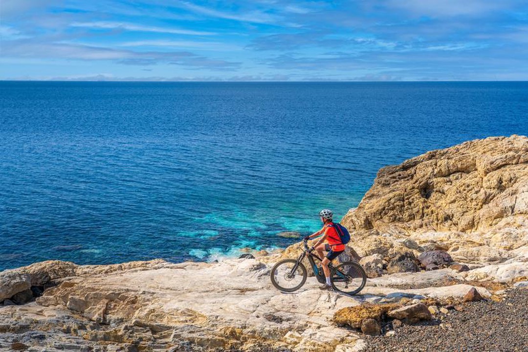
<svg viewBox="0 0 528 352">
<path fill-rule="evenodd" d="M 0 82 L 0 270 L 214 260 L 341 218 L 378 169 L 528 135 L 527 82 Z"/>
</svg>

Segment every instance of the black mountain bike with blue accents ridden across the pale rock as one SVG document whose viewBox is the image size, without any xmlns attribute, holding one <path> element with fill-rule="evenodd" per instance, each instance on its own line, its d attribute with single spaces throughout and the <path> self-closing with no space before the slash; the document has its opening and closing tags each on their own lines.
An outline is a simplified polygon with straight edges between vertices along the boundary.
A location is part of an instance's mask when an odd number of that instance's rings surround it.
<svg viewBox="0 0 528 352">
<path fill-rule="evenodd" d="M 303 241 L 303 253 L 299 255 L 297 260 L 282 260 L 275 264 L 273 269 L 271 269 L 271 283 L 278 290 L 294 292 L 303 287 L 306 278 L 308 277 L 308 273 L 306 267 L 301 261 L 303 261 L 306 256 L 308 256 L 310 267 L 312 267 L 317 281 L 320 283 L 326 282 L 323 270 L 316 264 L 316 261 L 321 262 L 322 259 L 319 258 L 318 255 L 312 253 L 313 249 L 309 249 L 307 243 L 307 240 Z M 332 263 L 329 263 L 328 268 L 330 269 L 330 282 L 332 283 L 332 288 L 334 290 L 351 296 L 359 293 L 363 287 L 365 287 L 366 273 L 359 263 L 344 262 L 335 267 Z"/>
</svg>

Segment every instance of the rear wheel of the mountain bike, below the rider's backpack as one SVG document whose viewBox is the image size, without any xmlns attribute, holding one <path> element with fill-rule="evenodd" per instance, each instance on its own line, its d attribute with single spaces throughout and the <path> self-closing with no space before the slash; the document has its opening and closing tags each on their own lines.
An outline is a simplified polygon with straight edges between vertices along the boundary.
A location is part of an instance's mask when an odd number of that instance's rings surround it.
<svg viewBox="0 0 528 352">
<path fill-rule="evenodd" d="M 366 283 L 366 273 L 356 262 L 344 262 L 332 269 L 332 288 L 348 295 L 359 293 Z"/>
</svg>

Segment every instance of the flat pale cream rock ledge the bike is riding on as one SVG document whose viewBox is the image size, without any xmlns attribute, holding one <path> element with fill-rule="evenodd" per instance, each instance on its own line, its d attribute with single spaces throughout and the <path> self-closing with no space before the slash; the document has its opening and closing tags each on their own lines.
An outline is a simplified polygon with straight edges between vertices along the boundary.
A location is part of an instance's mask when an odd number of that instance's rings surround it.
<svg viewBox="0 0 528 352">
<path fill-rule="evenodd" d="M 269 278 L 279 258 L 114 265 L 48 261 L 6 270 L 0 273 L 6 292 L 0 307 L 0 350 L 360 351 L 365 335 L 336 324 L 336 312 L 386 303 L 442 307 L 461 300 L 473 287 L 490 300 L 528 275 L 526 262 L 489 265 L 487 271 L 397 273 L 369 279 L 354 297 L 320 291 L 317 281 L 308 278 L 299 291 L 286 294 L 272 287 Z M 505 273 L 511 276 L 497 293 L 465 279 L 482 273 L 492 275 L 487 279 L 497 273 L 503 280 Z M 28 289 L 39 297 L 24 305 L 10 303 Z M 375 321 L 366 321 L 364 328 L 375 331 Z"/>
</svg>

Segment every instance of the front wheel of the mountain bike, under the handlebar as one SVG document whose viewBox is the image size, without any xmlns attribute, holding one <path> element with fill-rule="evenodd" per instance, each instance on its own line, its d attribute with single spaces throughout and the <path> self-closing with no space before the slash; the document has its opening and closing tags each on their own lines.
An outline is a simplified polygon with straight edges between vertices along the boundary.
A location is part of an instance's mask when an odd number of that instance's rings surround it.
<svg viewBox="0 0 528 352">
<path fill-rule="evenodd" d="M 284 292 L 293 292 L 300 289 L 306 282 L 307 277 L 305 266 L 303 263 L 297 264 L 295 259 L 280 261 L 271 269 L 271 283 L 278 290 Z"/>
</svg>

